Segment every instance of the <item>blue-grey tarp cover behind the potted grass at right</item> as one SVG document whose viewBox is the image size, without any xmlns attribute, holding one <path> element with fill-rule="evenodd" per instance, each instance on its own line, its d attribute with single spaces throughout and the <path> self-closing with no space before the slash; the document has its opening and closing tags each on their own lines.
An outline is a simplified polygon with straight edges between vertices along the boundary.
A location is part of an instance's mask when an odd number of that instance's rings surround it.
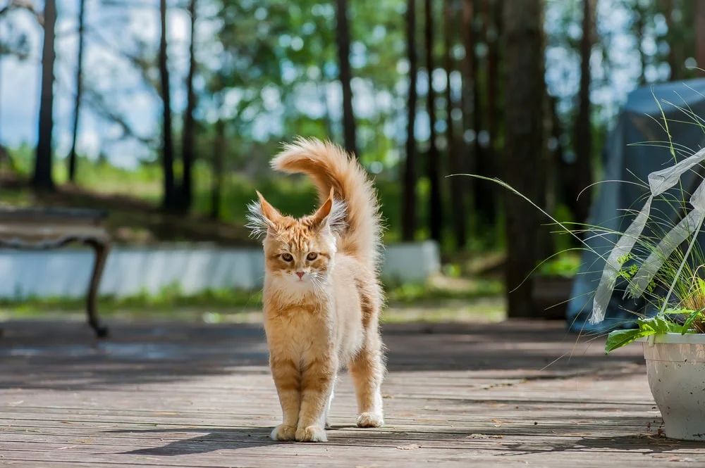
<svg viewBox="0 0 705 468">
<path fill-rule="evenodd" d="M 659 108 L 659 104 L 661 108 Z M 606 228 L 609 231 L 624 232 L 644 204 L 649 190 L 646 179 L 650 172 L 661 170 L 674 163 L 668 149 L 668 134 L 663 128 L 663 114 L 668 120 L 668 131 L 673 139 L 678 160 L 687 158 L 705 145 L 705 132 L 694 123 L 701 119 L 705 124 L 705 79 L 685 82 L 669 82 L 642 87 L 627 97 L 627 103 L 621 110 L 615 129 L 608 137 L 603 153 L 603 181 L 582 196 L 591 196 L 596 191 L 591 205 L 588 223 Z M 688 115 L 692 112 L 693 115 Z M 696 117 L 697 116 L 697 117 Z M 662 147 L 644 146 L 644 144 L 661 144 Z M 682 189 L 688 193 L 694 189 L 694 183 L 702 178 L 701 167 L 686 172 L 682 176 Z M 669 198 L 682 199 L 680 189 L 667 193 Z M 689 195 L 685 197 L 687 201 Z M 630 211 L 631 210 L 631 211 Z M 644 231 L 646 235 L 663 232 L 654 224 L 656 217 L 668 219 L 668 227 L 673 227 L 683 213 L 665 200 L 654 201 L 651 208 L 650 225 Z M 659 220 L 659 221 L 661 221 Z M 666 229 L 667 230 L 667 229 Z M 617 235 L 591 236 L 588 244 L 606 258 Z M 704 247 L 705 236 L 699 239 Z M 636 252 L 635 252 L 636 254 Z M 623 298 L 624 285 L 618 282 L 606 319 L 598 325 L 589 325 L 587 319 L 592 310 L 592 298 L 600 281 L 605 261 L 589 251 L 582 254 L 580 273 L 573 283 L 571 301 L 568 303 L 566 319 L 572 331 L 604 331 L 608 327 L 630 327 L 635 318 L 634 312 L 653 315 L 653 305 L 643 300 Z"/>
</svg>

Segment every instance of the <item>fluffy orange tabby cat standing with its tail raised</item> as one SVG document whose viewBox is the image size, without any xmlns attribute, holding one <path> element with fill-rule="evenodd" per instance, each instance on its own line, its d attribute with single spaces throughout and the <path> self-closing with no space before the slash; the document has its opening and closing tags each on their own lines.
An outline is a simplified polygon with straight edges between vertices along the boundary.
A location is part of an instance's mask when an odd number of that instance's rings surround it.
<svg viewBox="0 0 705 468">
<path fill-rule="evenodd" d="M 275 441 L 326 441 L 324 426 L 338 370 L 350 369 L 357 426 L 384 424 L 377 279 L 381 227 L 376 192 L 357 160 L 338 146 L 298 139 L 271 162 L 303 172 L 321 207 L 294 219 L 262 196 L 250 224 L 264 237 L 264 329 L 283 422 Z"/>
</svg>

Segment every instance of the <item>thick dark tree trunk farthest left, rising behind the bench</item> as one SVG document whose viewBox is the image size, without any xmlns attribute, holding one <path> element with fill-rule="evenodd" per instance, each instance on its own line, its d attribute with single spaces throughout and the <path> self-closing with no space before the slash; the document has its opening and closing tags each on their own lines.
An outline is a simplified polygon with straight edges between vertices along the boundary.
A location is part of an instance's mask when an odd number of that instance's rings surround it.
<svg viewBox="0 0 705 468">
<path fill-rule="evenodd" d="M 42 94 L 39 101 L 39 139 L 32 186 L 54 190 L 51 175 L 51 134 L 54 131 L 54 28 L 56 27 L 56 2 L 44 3 L 44 46 L 42 49 Z"/>
</svg>

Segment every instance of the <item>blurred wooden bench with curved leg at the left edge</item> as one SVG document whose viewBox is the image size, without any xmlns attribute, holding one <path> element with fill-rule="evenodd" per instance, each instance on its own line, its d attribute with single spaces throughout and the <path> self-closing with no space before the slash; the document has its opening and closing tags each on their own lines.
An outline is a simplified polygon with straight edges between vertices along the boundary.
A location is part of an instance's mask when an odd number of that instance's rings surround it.
<svg viewBox="0 0 705 468">
<path fill-rule="evenodd" d="M 97 311 L 98 287 L 110 251 L 110 235 L 100 225 L 104 217 L 101 210 L 0 207 L 0 248 L 48 250 L 72 243 L 93 248 L 86 312 L 87 322 L 99 338 L 108 334 Z"/>
</svg>

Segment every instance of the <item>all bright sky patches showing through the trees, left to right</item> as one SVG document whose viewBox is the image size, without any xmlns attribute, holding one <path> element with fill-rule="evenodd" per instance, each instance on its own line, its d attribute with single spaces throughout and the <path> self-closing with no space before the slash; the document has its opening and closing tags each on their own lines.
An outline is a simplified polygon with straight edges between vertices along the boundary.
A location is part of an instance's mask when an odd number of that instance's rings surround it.
<svg viewBox="0 0 705 468">
<path fill-rule="evenodd" d="M 4 0 L 6 2 L 6 0 Z M 556 2 L 563 0 L 548 0 L 546 11 L 546 28 L 551 30 L 558 23 L 557 15 L 560 8 Z M 623 103 L 628 91 L 633 89 L 639 75 L 638 57 L 635 57 L 634 40 L 625 34 L 628 27 L 627 11 L 616 8 L 615 0 L 599 2 L 598 27 L 600 34 L 611 34 L 610 55 L 613 69 L 606 77 L 606 84 L 595 86 L 592 100 L 601 104 L 606 112 L 605 118 L 611 119 Z M 0 0 L 0 4 L 3 4 Z M 43 2 L 35 2 L 43 4 Z M 158 96 L 143 82 L 142 77 L 123 58 L 117 56 L 111 44 L 125 44 L 125 37 L 131 40 L 138 38 L 145 44 L 156 47 L 159 42 L 159 16 L 157 0 L 145 0 L 144 8 L 99 8 L 98 0 L 87 0 L 87 27 L 103 25 L 101 30 L 90 36 L 85 49 L 85 80 L 106 96 L 111 108 L 125 115 L 131 127 L 145 137 L 152 137 L 159 132 L 161 106 Z M 149 5 L 152 4 L 152 5 Z M 40 5 L 41 6 L 41 5 Z M 75 93 L 75 66 L 78 37 L 78 0 L 57 0 L 59 18 L 56 25 L 56 99 L 54 101 L 54 145 L 58 155 L 65 155 L 71 147 L 71 132 L 73 125 L 73 95 Z M 42 51 L 42 30 L 35 18 L 25 12 L 15 12 L 5 21 L 12 21 L 13 26 L 30 32 L 31 55 L 25 61 L 13 57 L 4 57 L 0 61 L 0 143 L 6 146 L 18 146 L 23 142 L 35 144 L 37 140 L 37 115 L 39 112 L 40 58 Z M 665 22 L 662 21 L 662 23 Z M 656 27 L 658 29 L 658 21 Z M 664 26 L 665 27 L 665 26 Z M 213 30 L 208 25 L 200 24 L 197 44 L 207 44 L 209 34 Z M 178 8 L 171 8 L 168 15 L 168 45 L 169 67 L 172 81 L 172 107 L 176 113 L 185 107 L 185 87 L 183 86 L 185 72 L 188 66 L 188 16 Z M 0 30 L 0 34 L 2 31 Z M 580 37 L 580 27 L 568 30 L 568 34 Z M 651 42 L 649 42 L 651 40 Z M 653 43 L 653 44 L 652 44 Z M 648 36 L 644 42 L 645 49 L 654 49 L 656 42 Z M 654 49 L 655 50 L 655 49 Z M 213 60 L 217 55 L 203 56 L 203 60 Z M 636 65 L 636 66 L 635 66 Z M 398 68 L 403 68 L 403 61 Z M 601 64 L 601 56 L 594 53 L 591 58 L 591 68 L 595 80 L 605 78 Z M 403 71 L 403 70 L 401 70 Z M 663 70 L 647 70 L 656 79 Z M 666 73 L 668 70 L 666 70 Z M 460 77 L 452 80 L 460 85 Z M 579 69 L 575 54 L 571 55 L 560 44 L 546 49 L 546 80 L 549 92 L 562 97 L 562 106 L 572 105 L 572 96 L 577 93 Z M 445 73 L 435 70 L 433 75 L 434 89 L 442 91 L 445 87 Z M 419 75 L 419 92 L 424 94 L 428 87 L 425 74 Z M 315 88 L 315 87 L 314 87 Z M 306 108 L 308 113 L 322 113 L 320 91 L 318 89 L 300 89 L 300 96 L 295 101 L 299 108 Z M 276 89 L 263 90 L 263 96 L 269 96 L 269 107 L 272 112 L 281 102 L 278 102 Z M 341 93 L 337 83 L 330 84 L 325 89 L 331 108 L 333 120 L 340 118 Z M 374 111 L 374 106 L 392 106 L 391 96 L 372 96 L 367 91 L 363 80 L 353 81 L 355 95 L 355 112 L 358 115 L 368 115 Z M 315 96 L 307 99 L 307 96 Z M 238 96 L 230 96 L 233 101 Z M 227 98 L 226 98 L 227 99 Z M 265 104 L 268 99 L 265 99 Z M 213 115 L 209 115 L 214 118 Z M 255 125 L 255 132 L 266 134 L 274 132 L 276 120 L 262 119 Z M 424 112 L 419 112 L 417 118 L 417 135 L 424 139 L 428 134 L 428 118 Z M 257 128 L 259 127 L 259 128 Z M 391 132 L 401 132 L 403 125 L 392 125 Z M 105 153 L 111 163 L 122 167 L 134 167 L 140 158 L 149 156 L 149 149 L 134 140 L 121 141 L 121 129 L 100 118 L 90 106 L 82 106 L 80 132 L 78 137 L 78 152 L 97 158 L 99 153 Z M 471 136 L 472 137 L 472 136 Z"/>
</svg>

